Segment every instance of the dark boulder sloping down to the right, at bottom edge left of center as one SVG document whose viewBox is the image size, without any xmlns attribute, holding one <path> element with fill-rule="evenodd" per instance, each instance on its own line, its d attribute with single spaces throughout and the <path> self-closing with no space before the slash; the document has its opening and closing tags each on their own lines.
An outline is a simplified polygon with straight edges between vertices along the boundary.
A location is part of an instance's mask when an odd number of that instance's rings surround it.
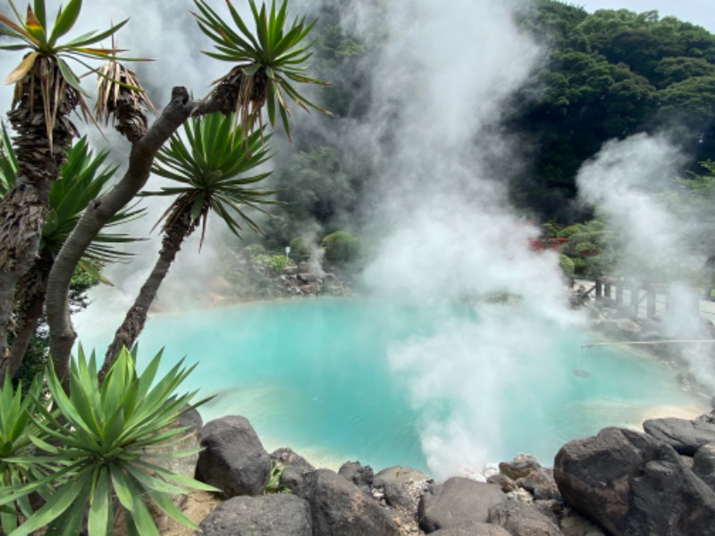
<svg viewBox="0 0 715 536">
<path fill-rule="evenodd" d="M 329 469 L 305 476 L 300 496 L 310 504 L 314 536 L 397 536 L 398 525 L 379 503 Z"/>
</svg>

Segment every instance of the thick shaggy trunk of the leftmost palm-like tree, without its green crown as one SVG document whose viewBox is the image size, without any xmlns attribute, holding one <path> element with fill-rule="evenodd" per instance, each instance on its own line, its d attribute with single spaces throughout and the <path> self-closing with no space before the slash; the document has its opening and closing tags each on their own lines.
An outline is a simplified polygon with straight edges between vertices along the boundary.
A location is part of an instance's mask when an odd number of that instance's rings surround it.
<svg viewBox="0 0 715 536">
<path fill-rule="evenodd" d="M 50 108 L 56 106 L 53 142 L 47 138 L 38 72 L 50 80 Z M 71 140 L 77 135 L 67 116 L 76 100 L 72 89 L 59 80 L 53 58 L 42 57 L 21 81 L 21 97 L 8 118 L 17 135 L 13 138 L 18 161 L 13 188 L 0 202 L 0 357 L 6 357 L 7 337 L 12 330 L 15 286 L 38 255 L 45 225 L 49 189 L 60 175 Z M 56 89 L 56 91 L 54 90 Z M 55 96 L 59 102 L 55 103 Z"/>
</svg>

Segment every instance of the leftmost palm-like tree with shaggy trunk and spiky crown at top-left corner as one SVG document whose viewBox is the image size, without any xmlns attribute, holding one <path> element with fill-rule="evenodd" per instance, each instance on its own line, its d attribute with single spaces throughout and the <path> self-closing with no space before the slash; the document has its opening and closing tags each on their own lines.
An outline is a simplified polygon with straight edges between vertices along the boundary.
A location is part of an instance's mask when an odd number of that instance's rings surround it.
<svg viewBox="0 0 715 536">
<path fill-rule="evenodd" d="M 27 51 L 27 54 L 5 80 L 15 86 L 13 110 L 8 118 L 17 134 L 14 138 L 17 172 L 13 187 L 0 203 L 0 244 L 4 247 L 0 255 L 0 358 L 7 348 L 5 319 L 12 312 L 13 291 L 34 263 L 51 185 L 60 176 L 72 138 L 78 135 L 69 115 L 79 106 L 85 119 L 92 118 L 80 79 L 68 61 L 97 71 L 89 63 L 97 59 L 116 60 L 120 50 L 97 46 L 126 23 L 122 21 L 105 31 L 92 31 L 60 42 L 78 20 L 81 0 L 70 0 L 61 8 L 52 26 L 47 24 L 44 0 L 34 0 L 25 16 L 13 0 L 8 4 L 16 21 L 0 14 L 0 34 L 13 41 L 0 46 L 0 50 Z"/>
</svg>

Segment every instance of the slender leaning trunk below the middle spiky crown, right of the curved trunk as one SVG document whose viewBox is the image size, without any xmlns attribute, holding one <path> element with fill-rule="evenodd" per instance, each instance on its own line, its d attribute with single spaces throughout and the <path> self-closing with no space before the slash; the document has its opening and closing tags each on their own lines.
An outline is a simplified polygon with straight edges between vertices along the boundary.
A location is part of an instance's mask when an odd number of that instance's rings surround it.
<svg viewBox="0 0 715 536">
<path fill-rule="evenodd" d="M 161 287 L 164 278 L 169 273 L 176 254 L 181 249 L 181 244 L 184 239 L 187 239 L 194 230 L 191 225 L 190 205 L 184 210 L 172 226 L 164 230 L 164 238 L 162 239 L 162 248 L 159 251 L 159 258 L 151 273 L 147 277 L 141 289 L 139 296 L 134 301 L 134 305 L 127 311 L 124 317 L 124 322 L 114 334 L 112 344 L 107 348 L 105 355 L 105 364 L 99 371 L 99 381 L 104 381 L 105 376 L 109 373 L 114 360 L 119 356 L 122 348 L 131 348 L 139 338 L 139 334 L 144 329 L 144 324 L 147 322 L 147 314 L 149 307 L 154 303 L 156 292 Z"/>
</svg>

